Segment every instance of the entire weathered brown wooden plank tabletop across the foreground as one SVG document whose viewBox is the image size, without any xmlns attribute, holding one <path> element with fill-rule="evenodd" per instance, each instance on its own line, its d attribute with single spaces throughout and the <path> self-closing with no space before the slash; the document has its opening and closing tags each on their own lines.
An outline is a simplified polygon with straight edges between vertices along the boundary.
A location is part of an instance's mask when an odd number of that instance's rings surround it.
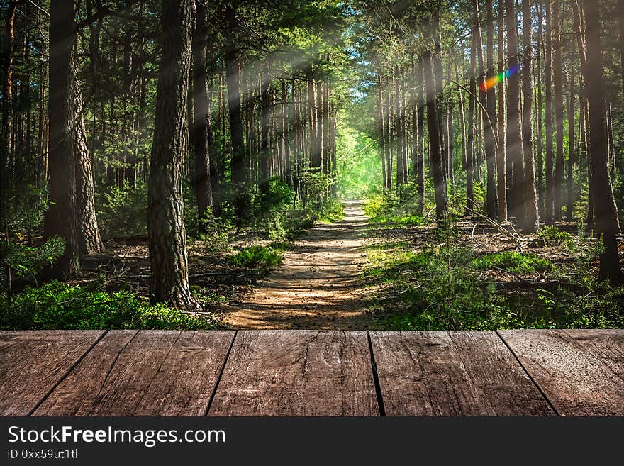
<svg viewBox="0 0 624 466">
<path fill-rule="evenodd" d="M 3 416 L 622 416 L 624 331 L 4 331 Z"/>
</svg>

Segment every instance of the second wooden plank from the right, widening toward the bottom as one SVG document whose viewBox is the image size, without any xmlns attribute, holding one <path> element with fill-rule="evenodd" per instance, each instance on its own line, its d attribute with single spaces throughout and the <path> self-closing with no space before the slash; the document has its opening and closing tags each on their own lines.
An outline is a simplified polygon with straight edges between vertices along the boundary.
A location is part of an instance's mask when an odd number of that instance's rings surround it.
<svg viewBox="0 0 624 466">
<path fill-rule="evenodd" d="M 494 332 L 371 332 L 388 416 L 552 416 Z"/>
</svg>

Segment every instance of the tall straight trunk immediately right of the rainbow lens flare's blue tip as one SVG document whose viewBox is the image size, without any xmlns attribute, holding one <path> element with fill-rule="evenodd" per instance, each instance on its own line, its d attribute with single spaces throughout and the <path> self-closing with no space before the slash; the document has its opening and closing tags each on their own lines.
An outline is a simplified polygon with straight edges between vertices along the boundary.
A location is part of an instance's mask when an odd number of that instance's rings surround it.
<svg viewBox="0 0 624 466">
<path fill-rule="evenodd" d="M 535 188 L 535 159 L 533 157 L 533 41 L 531 38 L 531 2 L 522 0 L 524 62 L 523 157 L 524 157 L 524 220 L 525 233 L 534 233 L 539 227 L 537 218 L 537 189 Z M 514 174 L 515 176 L 515 174 Z M 521 210 L 520 210 L 521 211 Z"/>
</svg>

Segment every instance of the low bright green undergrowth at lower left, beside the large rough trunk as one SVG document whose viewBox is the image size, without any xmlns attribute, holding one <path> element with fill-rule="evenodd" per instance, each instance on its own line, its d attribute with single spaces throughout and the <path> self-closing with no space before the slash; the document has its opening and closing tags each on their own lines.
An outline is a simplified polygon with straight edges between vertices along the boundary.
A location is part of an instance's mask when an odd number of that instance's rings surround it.
<svg viewBox="0 0 624 466">
<path fill-rule="evenodd" d="M 107 293 L 60 282 L 27 288 L 13 295 L 12 304 L 0 297 L 0 329 L 54 328 L 214 328 L 211 316 L 193 316 L 165 304 L 151 305 L 132 292 Z"/>
</svg>

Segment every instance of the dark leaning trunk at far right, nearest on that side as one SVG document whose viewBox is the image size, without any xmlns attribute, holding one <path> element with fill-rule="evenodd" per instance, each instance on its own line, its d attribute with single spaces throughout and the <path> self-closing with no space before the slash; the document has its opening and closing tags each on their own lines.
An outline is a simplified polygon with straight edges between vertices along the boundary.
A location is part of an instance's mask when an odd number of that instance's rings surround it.
<svg viewBox="0 0 624 466">
<path fill-rule="evenodd" d="M 618 209 L 613 198 L 613 187 L 608 170 L 606 129 L 604 120 L 604 89 L 602 42 L 600 37 L 600 4 L 584 0 L 587 37 L 587 80 L 585 93 L 589 102 L 589 138 L 592 168 L 596 182 L 596 232 L 605 247 L 600 256 L 600 280 L 609 279 L 611 284 L 621 284 L 617 235 L 620 232 Z"/>
</svg>

